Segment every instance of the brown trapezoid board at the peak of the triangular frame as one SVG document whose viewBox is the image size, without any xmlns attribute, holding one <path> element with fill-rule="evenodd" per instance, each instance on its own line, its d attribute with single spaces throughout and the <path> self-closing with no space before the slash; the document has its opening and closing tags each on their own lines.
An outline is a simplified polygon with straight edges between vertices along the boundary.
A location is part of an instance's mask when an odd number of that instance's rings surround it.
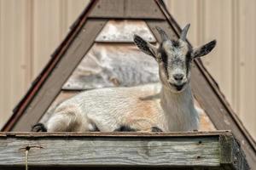
<svg viewBox="0 0 256 170">
<path fill-rule="evenodd" d="M 154 0 L 99 0 L 89 17 L 166 20 Z"/>
</svg>

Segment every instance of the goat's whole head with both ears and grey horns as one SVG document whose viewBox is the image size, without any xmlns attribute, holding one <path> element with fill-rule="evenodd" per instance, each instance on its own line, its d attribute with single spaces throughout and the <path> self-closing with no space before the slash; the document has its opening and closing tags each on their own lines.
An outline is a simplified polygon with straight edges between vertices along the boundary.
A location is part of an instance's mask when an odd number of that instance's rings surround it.
<svg viewBox="0 0 256 170">
<path fill-rule="evenodd" d="M 174 93 L 180 93 L 187 87 L 191 75 L 192 60 L 208 54 L 216 45 L 216 41 L 213 40 L 200 48 L 192 49 L 188 42 L 186 42 L 189 26 L 187 25 L 183 28 L 177 41 L 169 39 L 165 31 L 160 27 L 156 27 L 161 37 L 158 48 L 143 40 L 142 37 L 134 36 L 134 42 L 137 47 L 157 60 L 160 81 L 165 88 L 170 89 Z"/>
</svg>

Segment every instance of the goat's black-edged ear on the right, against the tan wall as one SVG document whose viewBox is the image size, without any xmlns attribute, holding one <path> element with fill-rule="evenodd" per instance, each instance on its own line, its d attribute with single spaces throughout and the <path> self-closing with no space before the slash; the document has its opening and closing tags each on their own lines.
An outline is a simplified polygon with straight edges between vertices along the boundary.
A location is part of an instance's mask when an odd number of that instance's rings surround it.
<svg viewBox="0 0 256 170">
<path fill-rule="evenodd" d="M 213 40 L 212 42 L 208 42 L 205 45 L 202 45 L 199 48 L 193 49 L 192 57 L 195 59 L 197 57 L 204 56 L 212 51 L 213 48 L 216 46 L 216 40 Z"/>
</svg>

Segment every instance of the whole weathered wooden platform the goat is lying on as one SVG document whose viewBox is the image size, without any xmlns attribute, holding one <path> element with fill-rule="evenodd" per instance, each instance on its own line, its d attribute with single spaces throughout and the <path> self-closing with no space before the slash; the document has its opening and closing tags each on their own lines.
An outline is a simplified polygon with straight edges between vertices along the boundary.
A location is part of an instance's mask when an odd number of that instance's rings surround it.
<svg viewBox="0 0 256 170">
<path fill-rule="evenodd" d="M 249 169 L 230 131 L 0 133 L 0 169 Z"/>
</svg>

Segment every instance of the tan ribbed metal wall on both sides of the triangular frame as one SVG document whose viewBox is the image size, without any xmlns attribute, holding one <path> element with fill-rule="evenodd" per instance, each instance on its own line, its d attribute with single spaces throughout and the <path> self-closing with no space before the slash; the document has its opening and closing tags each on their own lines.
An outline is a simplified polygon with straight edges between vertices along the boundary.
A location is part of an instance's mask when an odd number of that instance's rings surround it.
<svg viewBox="0 0 256 170">
<path fill-rule="evenodd" d="M 0 126 L 88 0 L 0 0 Z M 256 1 L 166 0 L 196 46 L 218 46 L 204 63 L 256 138 Z M 214 57 L 213 57 L 214 55 Z M 206 94 L 207 95 L 207 94 Z"/>
</svg>

